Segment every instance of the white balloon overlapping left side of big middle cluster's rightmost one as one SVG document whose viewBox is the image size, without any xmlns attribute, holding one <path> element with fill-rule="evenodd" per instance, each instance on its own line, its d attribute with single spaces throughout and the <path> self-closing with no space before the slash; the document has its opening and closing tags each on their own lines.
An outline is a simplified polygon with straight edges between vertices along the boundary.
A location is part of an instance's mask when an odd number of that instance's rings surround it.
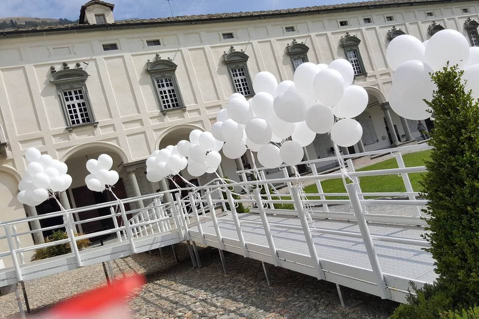
<svg viewBox="0 0 479 319">
<path fill-rule="evenodd" d="M 336 70 L 325 69 L 319 72 L 313 80 L 316 98 L 326 106 L 337 104 L 344 93 L 344 80 Z"/>
</svg>

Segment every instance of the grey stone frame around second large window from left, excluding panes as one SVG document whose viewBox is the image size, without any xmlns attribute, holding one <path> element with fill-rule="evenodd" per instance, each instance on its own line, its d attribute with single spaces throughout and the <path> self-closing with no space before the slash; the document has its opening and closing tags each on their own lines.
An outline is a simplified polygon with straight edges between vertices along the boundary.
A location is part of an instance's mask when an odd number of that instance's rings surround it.
<svg viewBox="0 0 479 319">
<path fill-rule="evenodd" d="M 185 111 L 186 106 L 185 103 L 183 102 L 183 96 L 181 94 L 180 86 L 178 85 L 178 80 L 176 78 L 176 69 L 178 68 L 178 65 L 174 63 L 171 58 L 168 59 L 162 59 L 161 56 L 157 53 L 155 55 L 155 59 L 153 61 L 148 60 L 147 62 L 147 69 L 146 71 L 150 74 L 151 76 L 151 81 L 153 83 L 153 88 L 155 89 L 156 92 L 156 97 L 158 99 L 158 103 L 160 105 L 160 112 L 165 115 L 169 111 L 175 111 L 175 110 L 180 110 L 183 109 Z M 179 106 L 173 107 L 173 108 L 165 108 L 163 106 L 163 101 L 160 96 L 160 92 L 158 91 L 156 79 L 158 78 L 166 78 L 166 77 L 171 77 L 171 80 L 173 82 L 173 87 L 175 89 L 175 93 L 178 99 L 178 104 Z"/>
</svg>

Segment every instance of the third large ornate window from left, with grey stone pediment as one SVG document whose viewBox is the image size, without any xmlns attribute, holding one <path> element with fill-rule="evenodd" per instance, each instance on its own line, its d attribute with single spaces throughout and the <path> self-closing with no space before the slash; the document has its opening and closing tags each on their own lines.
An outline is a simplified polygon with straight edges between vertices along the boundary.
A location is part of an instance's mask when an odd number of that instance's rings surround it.
<svg viewBox="0 0 479 319">
<path fill-rule="evenodd" d="M 242 95 L 253 95 L 251 78 L 249 77 L 248 62 L 249 56 L 241 51 L 236 51 L 233 45 L 230 50 L 223 54 L 223 62 L 228 67 L 233 90 Z"/>
</svg>

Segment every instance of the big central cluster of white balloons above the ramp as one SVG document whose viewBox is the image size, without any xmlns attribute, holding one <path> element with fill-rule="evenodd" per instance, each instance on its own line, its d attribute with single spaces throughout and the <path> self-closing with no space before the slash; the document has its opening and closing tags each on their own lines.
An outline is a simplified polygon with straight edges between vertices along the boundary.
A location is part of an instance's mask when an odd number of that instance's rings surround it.
<svg viewBox="0 0 479 319">
<path fill-rule="evenodd" d="M 259 72 L 253 79 L 254 97 L 246 100 L 233 94 L 227 108 L 218 112 L 211 132 L 225 142 L 227 158 L 238 159 L 248 148 L 268 168 L 299 163 L 302 148 L 316 134 L 331 133 L 337 145 L 352 146 L 362 136 L 361 125 L 352 118 L 368 103 L 367 92 L 351 85 L 353 78 L 353 67 L 344 59 L 329 65 L 302 63 L 294 81 L 279 84 L 271 73 Z"/>
</svg>

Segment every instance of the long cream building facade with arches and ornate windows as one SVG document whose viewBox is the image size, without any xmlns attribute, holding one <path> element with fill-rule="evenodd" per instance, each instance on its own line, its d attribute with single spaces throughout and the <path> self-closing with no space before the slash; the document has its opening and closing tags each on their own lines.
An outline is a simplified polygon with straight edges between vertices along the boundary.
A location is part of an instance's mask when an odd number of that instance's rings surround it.
<svg viewBox="0 0 479 319">
<path fill-rule="evenodd" d="M 443 28 L 463 32 L 471 45 L 479 38 L 479 2 L 470 0 L 379 0 L 122 21 L 114 20 L 113 9 L 92 0 L 81 7 L 79 24 L 0 30 L 0 220 L 57 209 L 50 202 L 27 209 L 16 200 L 29 147 L 68 164 L 73 184 L 60 196 L 66 206 L 110 200 L 84 183 L 86 160 L 101 153 L 113 157 L 121 175 L 115 187 L 120 197 L 165 189 L 166 182 L 146 179 L 145 160 L 154 150 L 187 139 L 193 129 L 209 130 L 232 93 L 254 94 L 251 79 L 259 71 L 292 80 L 306 61 L 348 59 L 354 84 L 369 94 L 368 108 L 357 117 L 362 141 L 342 152 L 415 141 L 417 122 L 400 118 L 387 103 L 388 43 L 399 34 L 425 41 Z M 307 154 L 332 156 L 329 137 L 317 135 Z M 250 162 L 225 159 L 223 173 L 238 179 L 236 170 Z M 92 222 L 78 231 L 110 226 Z M 22 247 L 32 242 L 25 235 Z M 0 241 L 0 251 L 5 245 Z"/>
</svg>

